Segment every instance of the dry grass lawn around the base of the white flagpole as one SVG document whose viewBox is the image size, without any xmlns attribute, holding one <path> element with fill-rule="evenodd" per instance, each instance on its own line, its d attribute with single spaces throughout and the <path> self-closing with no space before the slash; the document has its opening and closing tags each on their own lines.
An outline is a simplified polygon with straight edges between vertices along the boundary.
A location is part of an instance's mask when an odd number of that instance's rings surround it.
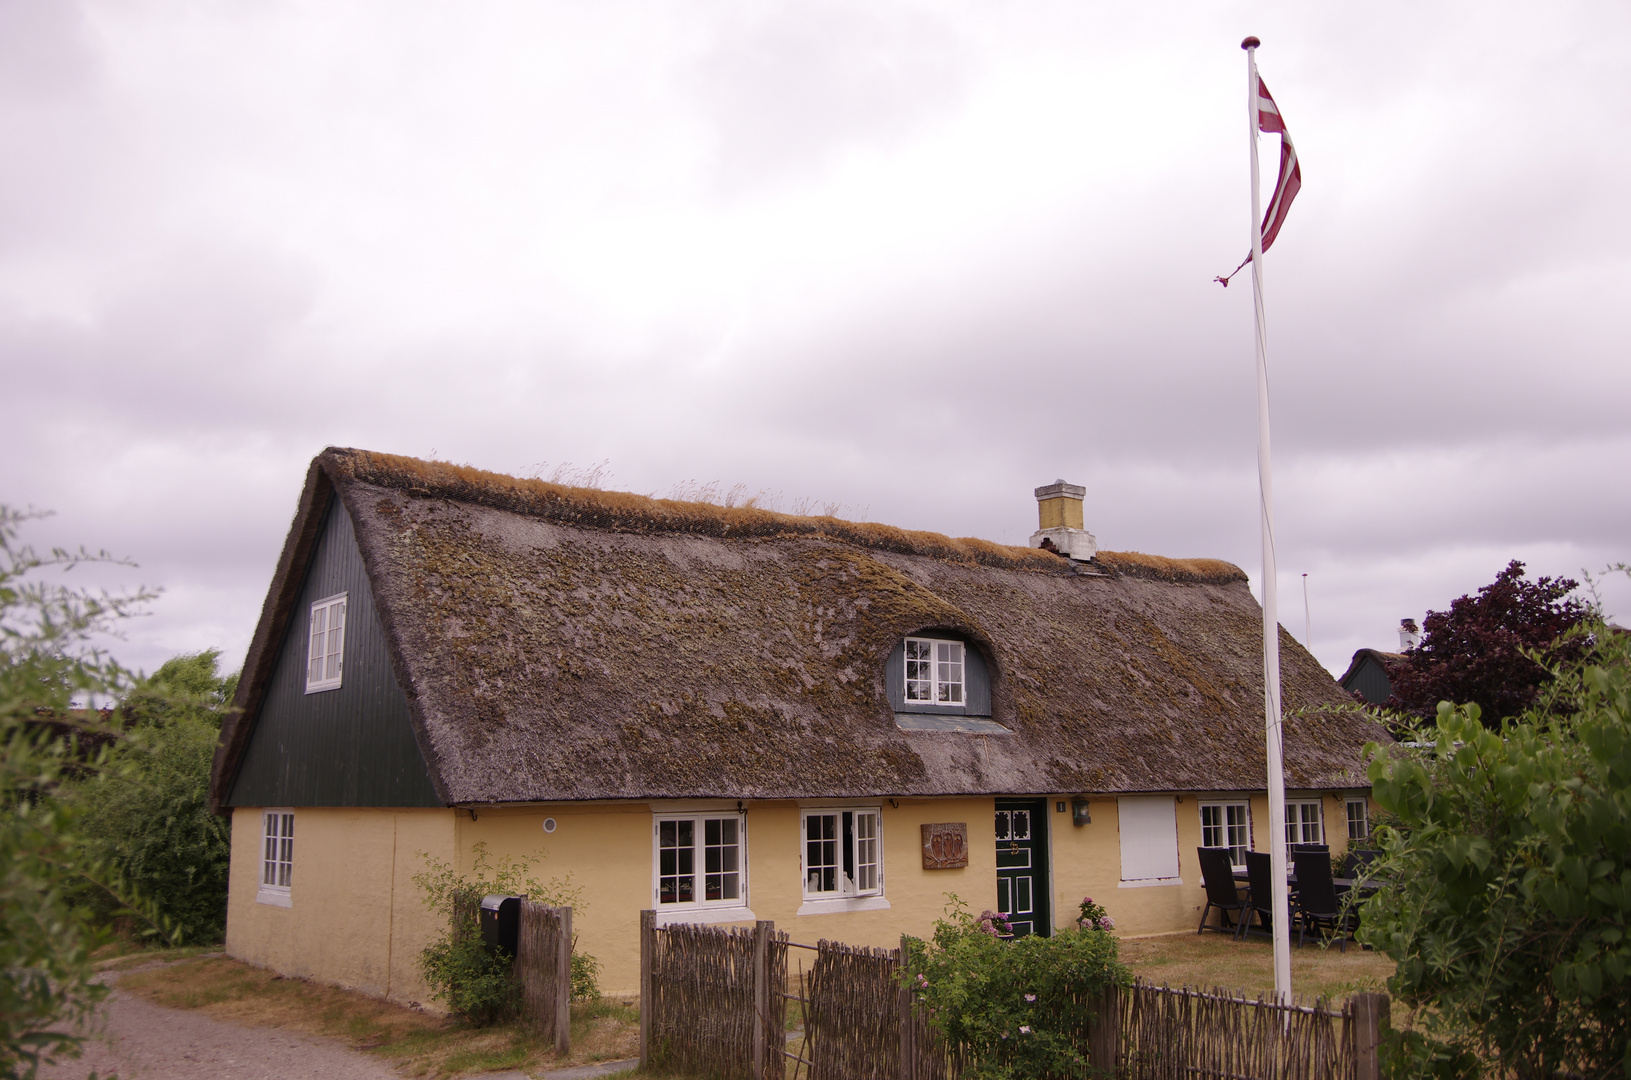
<svg viewBox="0 0 1631 1080">
<path fill-rule="evenodd" d="M 1125 938 L 1120 958 L 1147 982 L 1196 990 L 1223 987 L 1253 997 L 1274 992 L 1274 945 L 1267 938 L 1235 941 L 1227 933 Z M 1341 1002 L 1349 994 L 1385 994 L 1393 967 L 1386 956 L 1352 941 L 1339 953 L 1334 943 L 1319 948 L 1310 941 L 1297 948 L 1297 936 L 1292 936 L 1292 989 L 1298 997 Z"/>
</svg>

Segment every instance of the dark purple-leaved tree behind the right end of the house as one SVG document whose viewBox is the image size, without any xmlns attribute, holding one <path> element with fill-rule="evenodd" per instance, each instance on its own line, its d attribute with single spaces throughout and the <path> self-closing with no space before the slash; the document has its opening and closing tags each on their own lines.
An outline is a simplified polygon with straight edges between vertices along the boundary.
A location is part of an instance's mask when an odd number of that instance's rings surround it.
<svg viewBox="0 0 1631 1080">
<path fill-rule="evenodd" d="M 1517 716 L 1551 679 L 1548 666 L 1577 651 L 1576 638 L 1561 640 L 1590 613 L 1584 600 L 1567 599 L 1577 586 L 1567 578 L 1525 581 L 1523 563 L 1512 560 L 1478 595 L 1427 612 L 1421 646 L 1388 669 L 1386 708 L 1432 719 L 1440 702 L 1476 703 L 1491 726 Z"/>
</svg>

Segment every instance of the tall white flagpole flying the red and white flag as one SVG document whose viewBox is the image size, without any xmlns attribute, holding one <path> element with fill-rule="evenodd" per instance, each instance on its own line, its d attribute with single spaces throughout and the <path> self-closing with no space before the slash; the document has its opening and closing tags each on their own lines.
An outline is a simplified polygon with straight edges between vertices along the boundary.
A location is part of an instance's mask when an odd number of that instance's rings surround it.
<svg viewBox="0 0 1631 1080">
<path fill-rule="evenodd" d="M 1258 509 L 1262 525 L 1262 711 L 1269 750 L 1269 861 L 1274 889 L 1274 994 L 1292 1000 L 1292 896 L 1285 883 L 1285 768 L 1280 754 L 1280 615 L 1274 560 L 1274 465 L 1269 458 L 1269 351 L 1262 316 L 1262 207 L 1258 196 L 1258 46 L 1246 51 L 1246 109 L 1251 121 L 1251 299 L 1258 330 Z"/>
</svg>

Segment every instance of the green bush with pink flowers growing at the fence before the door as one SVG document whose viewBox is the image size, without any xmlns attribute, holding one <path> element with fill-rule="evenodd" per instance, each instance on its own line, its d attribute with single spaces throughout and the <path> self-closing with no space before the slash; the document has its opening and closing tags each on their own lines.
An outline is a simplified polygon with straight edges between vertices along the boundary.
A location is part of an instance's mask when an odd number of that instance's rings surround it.
<svg viewBox="0 0 1631 1080">
<path fill-rule="evenodd" d="M 930 941 L 908 941 L 907 974 L 920 1008 L 977 1080 L 1086 1077 L 1090 998 L 1132 977 L 1116 938 L 1091 923 L 1052 938 L 1005 940 L 1001 915 L 974 915 L 956 896 Z"/>
</svg>

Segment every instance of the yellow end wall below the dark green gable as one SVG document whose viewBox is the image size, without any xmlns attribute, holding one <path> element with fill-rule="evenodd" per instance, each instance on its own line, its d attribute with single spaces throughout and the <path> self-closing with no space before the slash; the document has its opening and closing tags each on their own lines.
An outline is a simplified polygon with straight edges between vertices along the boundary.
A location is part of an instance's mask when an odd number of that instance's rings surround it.
<svg viewBox="0 0 1631 1080">
<path fill-rule="evenodd" d="M 256 899 L 261 811 L 232 814 L 227 954 L 285 976 L 429 1003 L 419 951 L 439 932 L 413 876 L 452 861 L 453 811 L 295 809 L 290 907 Z"/>
</svg>

